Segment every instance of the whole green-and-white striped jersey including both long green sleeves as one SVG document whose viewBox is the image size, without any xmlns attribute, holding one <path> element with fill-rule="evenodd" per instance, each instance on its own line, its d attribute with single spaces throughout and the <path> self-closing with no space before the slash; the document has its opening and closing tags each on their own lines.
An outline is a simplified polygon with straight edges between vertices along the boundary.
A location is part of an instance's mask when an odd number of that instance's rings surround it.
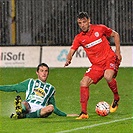
<svg viewBox="0 0 133 133">
<path fill-rule="evenodd" d="M 1 91 L 6 92 L 26 92 L 25 101 L 35 103 L 42 106 L 52 104 L 54 106 L 54 113 L 59 116 L 66 116 L 67 114 L 60 111 L 55 105 L 55 88 L 50 83 L 43 83 L 39 79 L 27 79 L 23 82 L 13 85 L 1 85 Z"/>
</svg>

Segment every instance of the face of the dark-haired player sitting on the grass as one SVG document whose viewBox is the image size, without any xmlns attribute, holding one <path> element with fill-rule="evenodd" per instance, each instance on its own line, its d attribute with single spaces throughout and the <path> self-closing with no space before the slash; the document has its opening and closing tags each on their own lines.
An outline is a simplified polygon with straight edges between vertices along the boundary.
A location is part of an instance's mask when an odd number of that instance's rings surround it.
<svg viewBox="0 0 133 133">
<path fill-rule="evenodd" d="M 48 68 L 45 66 L 40 66 L 36 74 L 38 75 L 38 79 L 40 79 L 42 82 L 45 82 L 49 74 Z"/>
</svg>

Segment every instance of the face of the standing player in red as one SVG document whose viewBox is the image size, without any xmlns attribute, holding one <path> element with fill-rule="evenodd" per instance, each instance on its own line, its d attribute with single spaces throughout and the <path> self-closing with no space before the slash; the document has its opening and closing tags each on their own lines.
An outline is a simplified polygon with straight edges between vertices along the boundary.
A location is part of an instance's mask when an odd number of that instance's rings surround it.
<svg viewBox="0 0 133 133">
<path fill-rule="evenodd" d="M 86 32 L 89 30 L 90 27 L 90 19 L 87 18 L 82 18 L 82 19 L 77 19 L 79 28 L 83 31 Z"/>
</svg>

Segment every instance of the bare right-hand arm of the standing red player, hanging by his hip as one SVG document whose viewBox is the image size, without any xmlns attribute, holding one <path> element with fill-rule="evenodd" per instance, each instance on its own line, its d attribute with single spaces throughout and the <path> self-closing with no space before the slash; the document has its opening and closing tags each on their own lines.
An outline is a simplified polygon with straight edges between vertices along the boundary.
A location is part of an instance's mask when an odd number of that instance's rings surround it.
<svg viewBox="0 0 133 133">
<path fill-rule="evenodd" d="M 116 31 L 112 30 L 111 37 L 114 38 L 114 43 L 116 46 L 115 53 L 118 56 L 118 59 L 121 61 L 122 57 L 121 57 L 121 51 L 120 51 L 120 36 Z"/>
</svg>

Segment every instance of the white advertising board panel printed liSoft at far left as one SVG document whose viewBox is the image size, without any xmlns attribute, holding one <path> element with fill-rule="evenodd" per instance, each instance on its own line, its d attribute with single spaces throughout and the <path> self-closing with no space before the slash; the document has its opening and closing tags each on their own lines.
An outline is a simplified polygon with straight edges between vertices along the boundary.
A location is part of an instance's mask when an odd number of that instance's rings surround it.
<svg viewBox="0 0 133 133">
<path fill-rule="evenodd" d="M 0 47 L 0 67 L 36 67 L 40 47 Z"/>
</svg>

